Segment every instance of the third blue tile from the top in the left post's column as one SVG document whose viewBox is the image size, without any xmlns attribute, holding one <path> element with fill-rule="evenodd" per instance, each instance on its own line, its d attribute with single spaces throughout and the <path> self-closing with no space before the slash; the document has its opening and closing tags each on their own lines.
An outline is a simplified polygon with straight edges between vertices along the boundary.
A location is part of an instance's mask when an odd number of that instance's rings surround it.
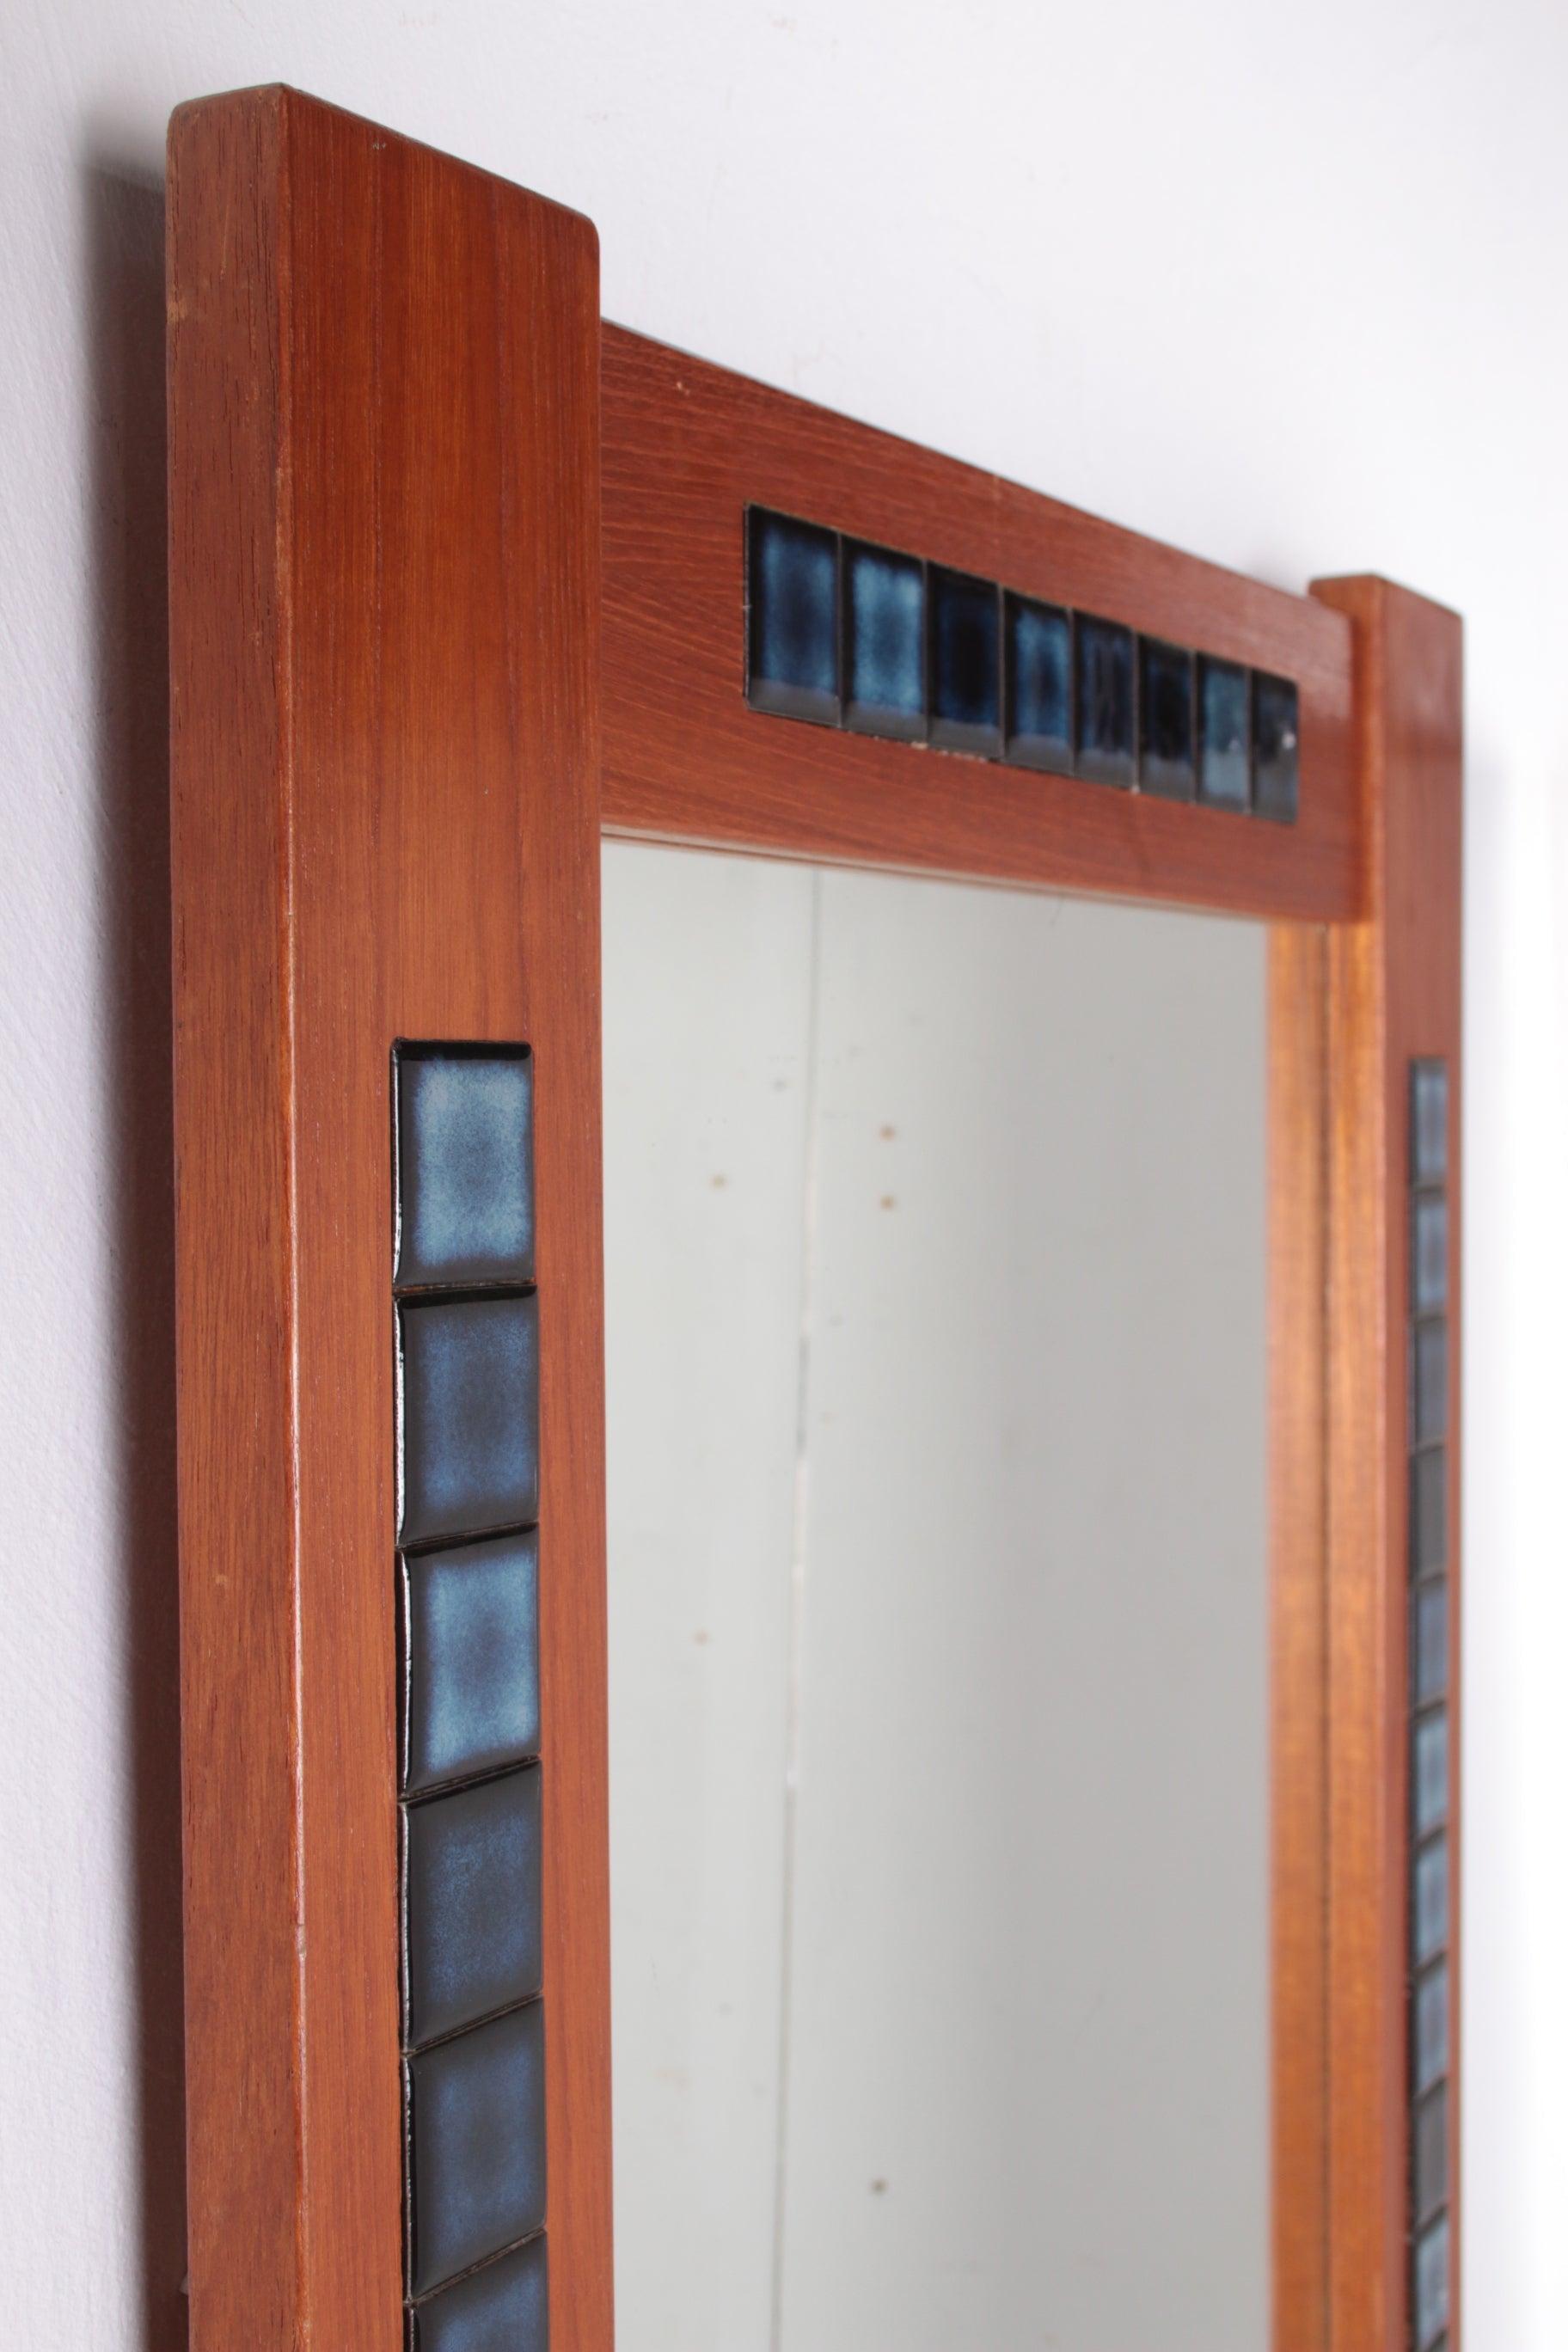
<svg viewBox="0 0 1568 2352">
<path fill-rule="evenodd" d="M 407 1795 L 538 1755 L 538 1531 L 402 1559 Z"/>
</svg>

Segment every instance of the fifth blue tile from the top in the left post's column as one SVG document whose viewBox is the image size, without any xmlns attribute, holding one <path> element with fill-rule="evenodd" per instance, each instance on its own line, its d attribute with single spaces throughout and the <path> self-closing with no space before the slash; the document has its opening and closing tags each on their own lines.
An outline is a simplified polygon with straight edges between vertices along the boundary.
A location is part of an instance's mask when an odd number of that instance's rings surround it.
<svg viewBox="0 0 1568 2352">
<path fill-rule="evenodd" d="M 409 2058 L 409 2293 L 545 2225 L 543 2002 Z"/>
</svg>

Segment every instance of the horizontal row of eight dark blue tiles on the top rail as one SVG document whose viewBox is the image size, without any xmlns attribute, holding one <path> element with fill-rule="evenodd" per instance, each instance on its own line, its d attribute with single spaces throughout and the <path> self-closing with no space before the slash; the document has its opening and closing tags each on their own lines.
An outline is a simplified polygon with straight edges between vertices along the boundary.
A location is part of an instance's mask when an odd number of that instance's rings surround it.
<svg viewBox="0 0 1568 2352">
<path fill-rule="evenodd" d="M 748 696 L 783 717 L 1291 823 L 1288 677 L 748 510 Z"/>
</svg>

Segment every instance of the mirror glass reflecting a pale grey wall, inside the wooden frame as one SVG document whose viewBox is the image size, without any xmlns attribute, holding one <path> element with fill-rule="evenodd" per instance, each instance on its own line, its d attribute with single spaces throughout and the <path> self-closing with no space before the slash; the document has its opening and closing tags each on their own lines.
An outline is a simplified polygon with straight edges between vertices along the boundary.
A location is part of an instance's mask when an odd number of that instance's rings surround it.
<svg viewBox="0 0 1568 2352">
<path fill-rule="evenodd" d="M 623 2352 L 1267 2340 L 1265 936 L 604 844 Z"/>
</svg>

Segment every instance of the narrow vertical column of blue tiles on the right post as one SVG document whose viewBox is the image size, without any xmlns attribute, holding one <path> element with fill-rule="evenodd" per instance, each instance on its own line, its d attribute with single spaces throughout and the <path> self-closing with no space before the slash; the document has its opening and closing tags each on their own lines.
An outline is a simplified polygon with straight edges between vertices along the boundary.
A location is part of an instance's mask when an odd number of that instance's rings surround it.
<svg viewBox="0 0 1568 2352">
<path fill-rule="evenodd" d="M 1410 1063 L 1410 2343 L 1448 2338 L 1448 1068 Z"/>
</svg>

